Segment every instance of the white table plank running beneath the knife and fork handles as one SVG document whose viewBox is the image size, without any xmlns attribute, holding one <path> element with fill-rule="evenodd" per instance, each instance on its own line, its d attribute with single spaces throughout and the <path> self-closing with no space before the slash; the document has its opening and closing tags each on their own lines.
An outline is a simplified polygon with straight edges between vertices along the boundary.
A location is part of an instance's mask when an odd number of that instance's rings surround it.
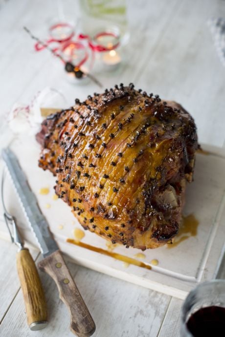
<svg viewBox="0 0 225 337">
<path fill-rule="evenodd" d="M 93 337 L 155 337 L 165 315 L 170 296 L 147 290 L 68 263 L 69 270 L 83 295 L 97 329 Z M 0 336 L 49 337 L 74 336 L 69 331 L 69 316 L 51 278 L 40 274 L 47 299 L 49 324 L 31 332 L 19 291 L 0 325 Z"/>
</svg>

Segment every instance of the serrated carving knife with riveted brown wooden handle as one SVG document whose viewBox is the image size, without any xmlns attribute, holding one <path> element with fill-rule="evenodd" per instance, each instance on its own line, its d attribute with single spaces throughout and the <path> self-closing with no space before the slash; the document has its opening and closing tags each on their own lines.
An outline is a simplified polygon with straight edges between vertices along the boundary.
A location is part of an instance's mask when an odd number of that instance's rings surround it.
<svg viewBox="0 0 225 337">
<path fill-rule="evenodd" d="M 47 221 L 40 211 L 36 196 L 28 185 L 18 159 L 9 148 L 2 150 L 2 158 L 22 204 L 23 212 L 44 256 L 38 264 L 39 268 L 55 281 L 60 298 L 67 305 L 70 313 L 70 330 L 79 337 L 91 336 L 95 331 L 94 321 L 50 233 Z"/>
</svg>

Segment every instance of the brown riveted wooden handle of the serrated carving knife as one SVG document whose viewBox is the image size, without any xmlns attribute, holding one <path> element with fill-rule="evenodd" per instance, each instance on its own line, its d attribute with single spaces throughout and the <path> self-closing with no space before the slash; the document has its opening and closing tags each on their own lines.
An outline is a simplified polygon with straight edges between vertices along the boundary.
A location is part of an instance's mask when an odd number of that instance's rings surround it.
<svg viewBox="0 0 225 337">
<path fill-rule="evenodd" d="M 95 331 L 94 321 L 69 273 L 61 252 L 56 251 L 45 257 L 38 266 L 55 281 L 60 298 L 67 305 L 70 313 L 70 330 L 79 337 L 91 336 Z"/>
</svg>

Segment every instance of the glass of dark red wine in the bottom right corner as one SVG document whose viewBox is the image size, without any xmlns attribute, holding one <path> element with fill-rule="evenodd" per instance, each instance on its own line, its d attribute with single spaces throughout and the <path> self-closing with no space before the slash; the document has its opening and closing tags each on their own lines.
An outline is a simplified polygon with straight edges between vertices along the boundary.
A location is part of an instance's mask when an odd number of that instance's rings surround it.
<svg viewBox="0 0 225 337">
<path fill-rule="evenodd" d="M 181 310 L 181 337 L 225 336 L 225 280 L 199 284 L 186 297 Z"/>
</svg>

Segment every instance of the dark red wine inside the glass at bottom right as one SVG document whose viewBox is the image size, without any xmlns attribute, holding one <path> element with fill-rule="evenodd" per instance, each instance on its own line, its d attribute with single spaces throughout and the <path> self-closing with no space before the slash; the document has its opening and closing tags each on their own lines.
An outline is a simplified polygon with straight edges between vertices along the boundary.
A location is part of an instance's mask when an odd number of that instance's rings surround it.
<svg viewBox="0 0 225 337">
<path fill-rule="evenodd" d="M 194 337 L 224 337 L 225 308 L 211 306 L 198 310 L 187 321 L 187 328 Z"/>
</svg>

